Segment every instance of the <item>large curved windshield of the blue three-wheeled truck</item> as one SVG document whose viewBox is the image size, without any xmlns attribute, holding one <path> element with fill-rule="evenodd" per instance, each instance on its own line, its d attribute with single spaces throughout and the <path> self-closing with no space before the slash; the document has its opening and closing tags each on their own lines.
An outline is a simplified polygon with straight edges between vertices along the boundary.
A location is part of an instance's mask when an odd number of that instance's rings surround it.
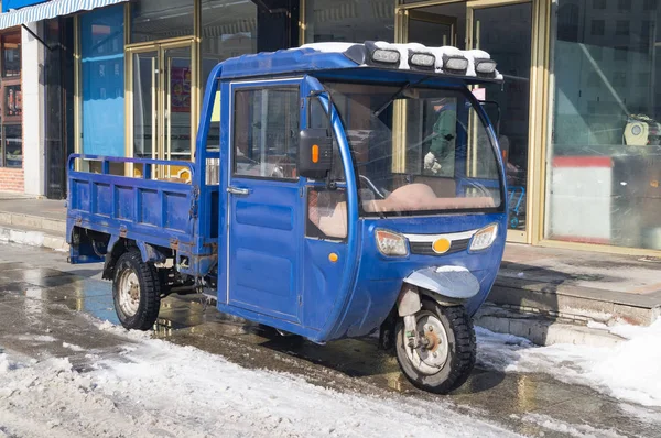
<svg viewBox="0 0 661 438">
<path fill-rule="evenodd" d="M 502 185 L 483 120 L 458 90 L 326 83 L 367 216 L 496 210 Z"/>
</svg>

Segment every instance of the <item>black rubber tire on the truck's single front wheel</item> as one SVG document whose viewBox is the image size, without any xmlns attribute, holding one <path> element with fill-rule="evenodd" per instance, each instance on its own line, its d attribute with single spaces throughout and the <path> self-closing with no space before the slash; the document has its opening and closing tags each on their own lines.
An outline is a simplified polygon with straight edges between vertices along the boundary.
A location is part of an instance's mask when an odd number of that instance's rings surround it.
<svg viewBox="0 0 661 438">
<path fill-rule="evenodd" d="M 431 299 L 423 299 L 420 313 L 425 310 L 437 317 L 447 335 L 448 353 L 445 364 L 435 374 L 425 374 L 411 363 L 404 343 L 403 318 L 398 318 L 395 326 L 397 361 L 414 386 L 436 394 L 447 394 L 462 386 L 475 366 L 473 320 L 464 306 L 445 307 Z"/>
</svg>

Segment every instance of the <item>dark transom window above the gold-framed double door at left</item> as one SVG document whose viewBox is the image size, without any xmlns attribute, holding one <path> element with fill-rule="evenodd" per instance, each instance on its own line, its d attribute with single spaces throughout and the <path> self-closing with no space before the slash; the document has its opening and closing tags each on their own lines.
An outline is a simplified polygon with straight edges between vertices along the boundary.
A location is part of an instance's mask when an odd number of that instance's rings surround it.
<svg viewBox="0 0 661 438">
<path fill-rule="evenodd" d="M 141 0 L 132 3 L 131 43 L 192 36 L 194 10 L 194 0 Z"/>
</svg>

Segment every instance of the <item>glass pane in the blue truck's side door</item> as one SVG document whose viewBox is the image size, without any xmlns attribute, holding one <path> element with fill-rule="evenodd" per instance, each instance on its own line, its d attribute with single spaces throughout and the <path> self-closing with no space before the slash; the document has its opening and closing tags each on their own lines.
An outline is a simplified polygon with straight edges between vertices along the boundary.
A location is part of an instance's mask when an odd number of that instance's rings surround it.
<svg viewBox="0 0 661 438">
<path fill-rule="evenodd" d="M 297 178 L 297 87 L 238 90 L 234 117 L 235 175 Z"/>
</svg>

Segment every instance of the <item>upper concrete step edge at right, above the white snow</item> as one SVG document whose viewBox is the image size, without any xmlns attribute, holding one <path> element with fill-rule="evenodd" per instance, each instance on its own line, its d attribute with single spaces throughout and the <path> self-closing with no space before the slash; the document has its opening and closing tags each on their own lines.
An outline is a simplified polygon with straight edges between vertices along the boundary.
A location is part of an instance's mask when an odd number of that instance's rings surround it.
<svg viewBox="0 0 661 438">
<path fill-rule="evenodd" d="M 661 292 L 635 294 L 499 274 L 488 300 L 510 310 L 573 321 L 649 326 L 661 317 Z"/>
</svg>

